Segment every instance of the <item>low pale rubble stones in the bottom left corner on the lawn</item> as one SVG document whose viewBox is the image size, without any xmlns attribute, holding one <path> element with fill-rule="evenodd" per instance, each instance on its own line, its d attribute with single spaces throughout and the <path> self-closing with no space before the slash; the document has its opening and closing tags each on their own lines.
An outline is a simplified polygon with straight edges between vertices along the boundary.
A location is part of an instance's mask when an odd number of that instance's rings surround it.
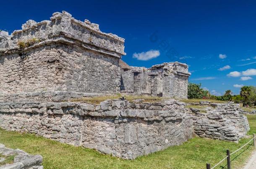
<svg viewBox="0 0 256 169">
<path fill-rule="evenodd" d="M 13 164 L 0 166 L 0 169 L 43 169 L 41 165 L 43 157 L 41 155 L 30 155 L 20 149 L 9 149 L 0 144 L 0 162 L 5 161 L 8 156 L 14 156 Z"/>
</svg>

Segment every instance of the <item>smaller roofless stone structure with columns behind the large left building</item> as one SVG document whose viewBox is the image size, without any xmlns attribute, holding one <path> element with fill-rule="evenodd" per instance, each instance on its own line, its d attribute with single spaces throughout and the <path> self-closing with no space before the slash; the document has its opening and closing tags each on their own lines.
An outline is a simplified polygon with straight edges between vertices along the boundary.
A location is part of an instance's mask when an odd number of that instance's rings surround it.
<svg viewBox="0 0 256 169">
<path fill-rule="evenodd" d="M 171 62 L 151 68 L 122 68 L 121 92 L 136 95 L 188 98 L 188 66 Z"/>
</svg>

